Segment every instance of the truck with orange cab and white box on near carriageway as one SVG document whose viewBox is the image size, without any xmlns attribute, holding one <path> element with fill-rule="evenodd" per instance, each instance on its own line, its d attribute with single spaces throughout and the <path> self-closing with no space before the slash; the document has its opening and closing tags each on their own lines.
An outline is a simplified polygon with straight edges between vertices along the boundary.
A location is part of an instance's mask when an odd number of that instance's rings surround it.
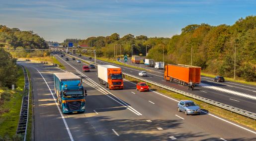
<svg viewBox="0 0 256 141">
<path fill-rule="evenodd" d="M 123 89 L 122 70 L 112 65 L 98 65 L 98 80 L 109 89 Z"/>
</svg>

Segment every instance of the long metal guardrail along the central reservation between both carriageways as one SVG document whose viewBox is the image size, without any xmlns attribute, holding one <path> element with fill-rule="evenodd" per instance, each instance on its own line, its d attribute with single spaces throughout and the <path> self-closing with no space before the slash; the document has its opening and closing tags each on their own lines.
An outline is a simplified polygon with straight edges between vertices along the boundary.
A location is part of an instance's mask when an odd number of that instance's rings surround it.
<svg viewBox="0 0 256 141">
<path fill-rule="evenodd" d="M 217 107 L 226 109 L 226 110 L 228 110 L 228 111 L 231 111 L 231 112 L 234 112 L 234 113 L 237 113 L 237 114 L 240 114 L 240 115 L 243 115 L 243 116 L 252 118 L 252 119 L 256 119 L 256 113 L 252 113 L 252 112 L 249 112 L 249 111 L 246 111 L 246 110 L 243 110 L 243 109 L 239 109 L 239 108 L 236 108 L 236 107 L 233 107 L 233 106 L 230 106 L 230 105 L 221 103 L 221 102 L 217 102 L 217 101 L 214 101 L 214 100 L 205 98 L 205 97 L 201 97 L 201 96 L 198 96 L 198 95 L 189 93 L 189 92 L 185 92 L 185 91 L 182 91 L 182 90 L 178 90 L 178 89 L 175 89 L 175 88 L 172 88 L 172 87 L 169 87 L 169 86 L 160 84 L 160 83 L 156 83 L 156 82 L 154 82 L 154 81 L 150 81 L 150 80 L 147 80 L 147 79 L 143 79 L 143 78 L 141 78 L 141 77 L 137 77 L 137 76 L 134 76 L 134 75 L 131 75 L 131 74 L 128 74 L 128 73 L 124 73 L 124 72 L 123 72 L 123 74 L 125 74 L 125 75 L 127 75 L 127 76 L 130 76 L 130 77 L 133 77 L 133 78 L 135 78 L 135 79 L 138 79 L 138 80 L 141 80 L 141 81 L 144 81 L 144 82 L 147 82 L 147 83 L 156 85 L 156 86 L 158 86 L 158 87 L 161 87 L 161 88 L 164 88 L 164 89 L 167 89 L 167 90 L 170 90 L 170 91 L 173 91 L 173 92 L 176 92 L 176 93 L 179 93 L 179 94 L 188 96 L 188 97 L 192 97 L 192 98 L 194 98 L 194 99 L 197 99 L 197 100 L 200 100 L 200 101 L 209 103 L 209 104 L 211 104 L 211 105 L 214 105 L 214 106 L 217 106 Z"/>
</svg>

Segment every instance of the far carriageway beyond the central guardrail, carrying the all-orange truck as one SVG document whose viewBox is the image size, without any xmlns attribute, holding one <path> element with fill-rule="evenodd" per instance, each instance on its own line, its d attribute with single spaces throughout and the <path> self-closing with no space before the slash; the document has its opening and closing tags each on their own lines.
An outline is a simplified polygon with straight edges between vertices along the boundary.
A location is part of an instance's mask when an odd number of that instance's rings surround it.
<svg viewBox="0 0 256 141">
<path fill-rule="evenodd" d="M 73 54 L 73 56 L 75 56 L 75 54 Z M 88 59 L 88 57 L 85 56 L 78 56 L 78 58 L 81 58 L 85 61 L 94 62 L 93 58 Z M 165 81 L 164 70 L 156 70 L 152 67 L 145 67 L 144 65 L 132 64 L 130 62 L 131 60 L 129 59 L 125 64 L 138 67 L 138 69 L 100 60 L 96 61 L 96 63 L 99 65 L 112 64 L 114 66 L 121 67 L 123 72 L 136 76 L 138 76 L 140 68 L 148 69 L 147 72 L 150 73 L 150 75 L 148 77 L 143 77 L 144 79 L 155 81 L 182 91 L 190 92 L 205 98 L 209 98 L 227 105 L 256 113 L 256 86 L 231 81 L 226 81 L 224 83 L 213 82 L 211 77 L 201 76 L 200 85 L 191 91 L 188 90 L 186 86 L 179 85 L 176 82 Z"/>
</svg>

